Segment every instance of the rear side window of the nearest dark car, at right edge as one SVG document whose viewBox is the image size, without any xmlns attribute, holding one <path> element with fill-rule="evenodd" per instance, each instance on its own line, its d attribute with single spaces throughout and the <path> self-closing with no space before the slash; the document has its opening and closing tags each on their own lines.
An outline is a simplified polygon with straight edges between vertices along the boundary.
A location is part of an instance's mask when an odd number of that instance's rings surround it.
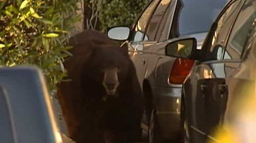
<svg viewBox="0 0 256 143">
<path fill-rule="evenodd" d="M 256 1 L 246 1 L 233 25 L 225 55 L 231 59 L 240 59 L 246 43 L 249 40 L 256 17 Z M 225 59 L 225 56 L 224 56 Z"/>
</svg>

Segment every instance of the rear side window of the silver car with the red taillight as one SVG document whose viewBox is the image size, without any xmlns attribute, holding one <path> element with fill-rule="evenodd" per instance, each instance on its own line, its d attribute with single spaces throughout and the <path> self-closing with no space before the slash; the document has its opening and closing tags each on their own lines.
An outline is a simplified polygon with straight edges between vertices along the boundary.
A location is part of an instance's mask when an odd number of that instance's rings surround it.
<svg viewBox="0 0 256 143">
<path fill-rule="evenodd" d="M 160 23 L 166 21 L 166 18 L 163 19 L 163 15 L 165 14 L 170 2 L 171 0 L 162 0 L 161 3 L 158 5 L 157 9 L 155 10 L 150 20 L 150 23 L 148 23 L 148 27 L 146 30 L 146 36 L 147 36 L 146 38 L 148 39 L 144 39 L 144 41 L 156 40 L 156 34 L 159 32 Z"/>
</svg>

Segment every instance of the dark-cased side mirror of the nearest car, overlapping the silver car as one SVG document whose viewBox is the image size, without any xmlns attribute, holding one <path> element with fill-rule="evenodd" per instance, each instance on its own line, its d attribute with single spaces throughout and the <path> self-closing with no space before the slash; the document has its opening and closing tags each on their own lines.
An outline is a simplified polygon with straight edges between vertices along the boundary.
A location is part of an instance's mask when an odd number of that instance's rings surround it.
<svg viewBox="0 0 256 143">
<path fill-rule="evenodd" d="M 165 55 L 176 58 L 198 60 L 196 38 L 179 39 L 165 46 Z"/>
</svg>

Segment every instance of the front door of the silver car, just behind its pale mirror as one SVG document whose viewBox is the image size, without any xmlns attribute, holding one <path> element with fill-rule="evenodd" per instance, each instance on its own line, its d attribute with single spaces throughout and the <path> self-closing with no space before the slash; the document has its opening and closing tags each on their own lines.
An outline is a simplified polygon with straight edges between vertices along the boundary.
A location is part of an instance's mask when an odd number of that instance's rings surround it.
<svg viewBox="0 0 256 143">
<path fill-rule="evenodd" d="M 136 67 L 137 76 L 141 85 L 145 75 L 147 60 L 151 53 L 150 45 L 152 44 L 151 42 L 144 42 L 148 39 L 145 32 L 148 22 L 150 21 L 159 2 L 159 0 L 154 0 L 146 7 L 139 19 L 135 22 L 131 36 L 121 45 L 128 46 L 129 54 L 131 55 L 130 57 Z"/>
</svg>

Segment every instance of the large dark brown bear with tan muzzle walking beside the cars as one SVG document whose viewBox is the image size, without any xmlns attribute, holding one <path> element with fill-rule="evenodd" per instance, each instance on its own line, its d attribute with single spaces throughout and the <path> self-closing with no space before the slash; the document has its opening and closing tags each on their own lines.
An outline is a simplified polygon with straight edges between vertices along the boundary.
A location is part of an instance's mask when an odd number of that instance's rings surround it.
<svg viewBox="0 0 256 143">
<path fill-rule="evenodd" d="M 58 85 L 70 137 L 77 143 L 132 143 L 140 137 L 143 96 L 127 48 L 86 30 L 71 37 L 64 62 L 71 81 Z"/>
</svg>

